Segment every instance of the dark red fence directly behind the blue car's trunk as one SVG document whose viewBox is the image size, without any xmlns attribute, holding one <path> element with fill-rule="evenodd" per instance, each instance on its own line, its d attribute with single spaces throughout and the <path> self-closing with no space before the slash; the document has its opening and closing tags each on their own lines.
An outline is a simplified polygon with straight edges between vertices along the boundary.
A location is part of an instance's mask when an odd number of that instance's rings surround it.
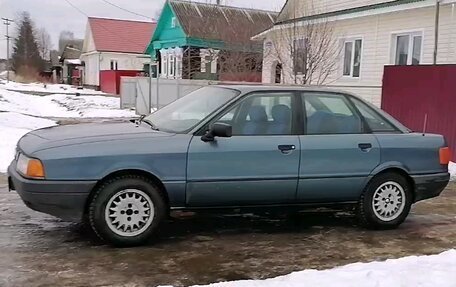
<svg viewBox="0 0 456 287">
<path fill-rule="evenodd" d="M 456 65 L 385 66 L 382 109 L 413 131 L 445 136 L 456 158 Z"/>
</svg>

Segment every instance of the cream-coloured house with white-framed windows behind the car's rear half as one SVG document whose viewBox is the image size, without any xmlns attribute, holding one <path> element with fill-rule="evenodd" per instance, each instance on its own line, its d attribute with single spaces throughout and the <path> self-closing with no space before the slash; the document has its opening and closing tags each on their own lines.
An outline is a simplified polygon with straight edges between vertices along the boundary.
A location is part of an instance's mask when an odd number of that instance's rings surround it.
<svg viewBox="0 0 456 287">
<path fill-rule="evenodd" d="M 255 36 L 267 47 L 263 82 L 335 87 L 380 106 L 385 66 L 456 63 L 455 5 L 288 0 L 274 27 Z"/>
</svg>

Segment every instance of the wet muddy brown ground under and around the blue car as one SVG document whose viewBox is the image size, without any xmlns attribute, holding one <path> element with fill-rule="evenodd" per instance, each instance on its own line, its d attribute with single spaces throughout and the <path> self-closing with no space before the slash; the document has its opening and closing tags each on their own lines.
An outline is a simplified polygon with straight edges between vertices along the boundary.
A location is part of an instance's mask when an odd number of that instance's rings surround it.
<svg viewBox="0 0 456 287">
<path fill-rule="evenodd" d="M 307 268 L 456 248 L 456 184 L 417 204 L 397 230 L 368 231 L 349 215 L 193 216 L 154 244 L 102 245 L 84 227 L 29 210 L 0 176 L 0 286 L 186 286 L 275 277 Z"/>
</svg>

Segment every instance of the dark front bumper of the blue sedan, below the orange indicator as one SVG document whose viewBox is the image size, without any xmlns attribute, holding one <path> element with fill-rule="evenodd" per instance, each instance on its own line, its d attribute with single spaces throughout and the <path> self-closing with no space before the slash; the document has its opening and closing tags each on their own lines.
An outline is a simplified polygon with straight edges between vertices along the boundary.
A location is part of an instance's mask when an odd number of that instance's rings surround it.
<svg viewBox="0 0 456 287">
<path fill-rule="evenodd" d="M 30 180 L 21 176 L 14 162 L 8 168 L 8 185 L 31 209 L 64 220 L 80 222 L 96 181 Z"/>
</svg>

